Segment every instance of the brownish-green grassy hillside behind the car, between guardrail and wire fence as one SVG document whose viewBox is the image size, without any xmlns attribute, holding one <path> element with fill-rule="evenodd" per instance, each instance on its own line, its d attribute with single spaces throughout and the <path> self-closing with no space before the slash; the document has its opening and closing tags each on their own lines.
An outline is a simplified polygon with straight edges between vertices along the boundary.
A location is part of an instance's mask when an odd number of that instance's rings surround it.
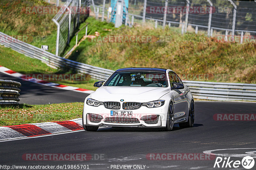
<svg viewBox="0 0 256 170">
<path fill-rule="evenodd" d="M 101 33 L 101 32 L 100 32 Z M 69 59 L 108 69 L 122 67 L 170 68 L 180 76 L 209 74 L 206 81 L 256 83 L 256 44 L 226 43 L 203 33 L 186 33 L 180 29 L 150 26 L 121 26 L 108 35 L 167 36 L 149 43 L 111 43 L 83 41 Z M 225 75 L 225 78 L 218 78 Z M 205 80 L 204 80 L 205 81 Z"/>
</svg>

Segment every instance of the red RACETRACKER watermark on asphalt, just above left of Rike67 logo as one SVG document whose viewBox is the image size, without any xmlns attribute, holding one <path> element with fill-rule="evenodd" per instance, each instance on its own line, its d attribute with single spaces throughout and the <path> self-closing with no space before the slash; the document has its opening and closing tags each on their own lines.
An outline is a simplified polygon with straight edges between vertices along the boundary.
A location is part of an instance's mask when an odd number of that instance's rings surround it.
<svg viewBox="0 0 256 170">
<path fill-rule="evenodd" d="M 148 160 L 214 160 L 214 154 L 205 153 L 148 153 Z"/>
</svg>

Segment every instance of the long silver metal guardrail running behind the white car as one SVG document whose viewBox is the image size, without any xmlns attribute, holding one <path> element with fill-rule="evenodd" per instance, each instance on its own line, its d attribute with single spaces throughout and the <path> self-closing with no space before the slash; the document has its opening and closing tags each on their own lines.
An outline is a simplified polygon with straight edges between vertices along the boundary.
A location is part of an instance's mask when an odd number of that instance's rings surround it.
<svg viewBox="0 0 256 170">
<path fill-rule="evenodd" d="M 0 32 L 0 36 L 12 37 Z M 10 47 L 13 50 L 22 53 L 28 57 L 43 61 L 53 68 L 71 67 L 77 72 L 89 74 L 91 78 L 104 81 L 114 71 L 79 63 L 73 60 L 64 59 L 38 47 L 15 39 L 15 42 L 1 42 L 0 44 Z M 256 84 L 244 83 L 220 83 L 207 81 L 183 81 L 187 85 L 194 98 L 207 100 L 243 100 L 256 101 Z"/>
</svg>

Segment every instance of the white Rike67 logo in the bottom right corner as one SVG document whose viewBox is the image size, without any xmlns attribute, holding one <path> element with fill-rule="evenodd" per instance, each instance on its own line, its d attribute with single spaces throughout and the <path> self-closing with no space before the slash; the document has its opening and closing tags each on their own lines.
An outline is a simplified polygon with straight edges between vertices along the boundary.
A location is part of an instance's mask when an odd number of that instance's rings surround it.
<svg viewBox="0 0 256 170">
<path fill-rule="evenodd" d="M 241 167 L 241 165 L 245 168 L 245 169 L 251 169 L 254 166 L 254 159 L 251 156 L 245 156 L 242 161 L 240 160 L 230 160 L 230 157 L 225 157 L 224 159 L 222 157 L 217 157 L 214 163 L 214 168 L 215 167 L 222 167 L 222 168 L 238 168 Z"/>
</svg>

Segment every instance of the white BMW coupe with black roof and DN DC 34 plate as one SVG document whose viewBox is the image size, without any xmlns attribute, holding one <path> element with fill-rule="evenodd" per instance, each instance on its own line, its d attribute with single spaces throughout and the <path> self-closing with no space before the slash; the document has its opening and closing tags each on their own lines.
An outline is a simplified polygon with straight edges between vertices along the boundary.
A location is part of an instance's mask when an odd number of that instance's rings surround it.
<svg viewBox="0 0 256 170">
<path fill-rule="evenodd" d="M 194 98 L 180 77 L 164 68 L 120 68 L 84 100 L 83 127 L 192 127 Z"/>
</svg>

